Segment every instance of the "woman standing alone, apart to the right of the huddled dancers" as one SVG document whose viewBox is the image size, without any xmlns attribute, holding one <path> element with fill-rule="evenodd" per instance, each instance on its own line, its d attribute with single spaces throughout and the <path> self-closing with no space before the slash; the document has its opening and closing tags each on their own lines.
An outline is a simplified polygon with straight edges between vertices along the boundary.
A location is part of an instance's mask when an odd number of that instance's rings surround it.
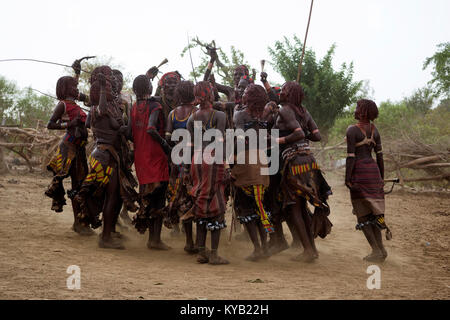
<svg viewBox="0 0 450 320">
<path fill-rule="evenodd" d="M 381 230 L 386 229 L 386 238 L 391 238 L 389 228 L 384 221 L 384 161 L 381 137 L 372 123 L 378 117 L 378 108 L 374 101 L 358 100 L 355 119 L 358 123 L 347 129 L 347 160 L 345 185 L 350 190 L 353 214 L 356 215 L 357 230 L 364 233 L 372 253 L 364 260 L 381 262 L 387 257 L 383 245 Z M 372 158 L 376 154 L 376 161 Z"/>
</svg>

